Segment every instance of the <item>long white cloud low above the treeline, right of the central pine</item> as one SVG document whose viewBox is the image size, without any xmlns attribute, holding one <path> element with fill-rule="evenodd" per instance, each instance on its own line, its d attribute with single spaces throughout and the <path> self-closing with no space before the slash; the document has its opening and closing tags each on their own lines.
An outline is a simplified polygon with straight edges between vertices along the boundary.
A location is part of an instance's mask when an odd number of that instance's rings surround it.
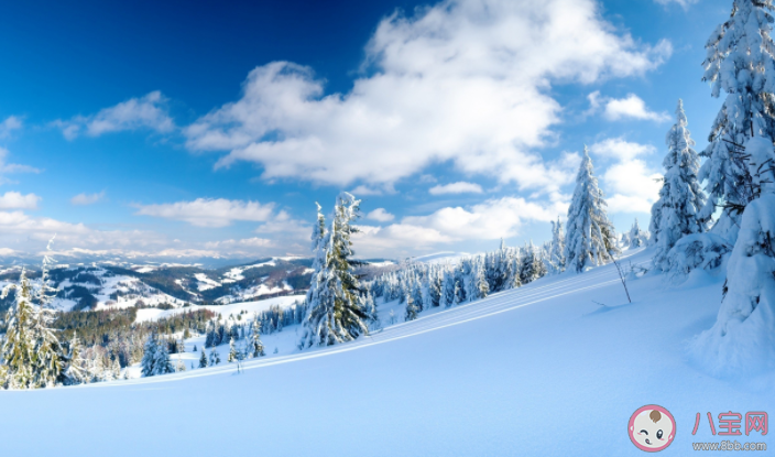
<svg viewBox="0 0 775 457">
<path fill-rule="evenodd" d="M 364 255 L 417 252 L 439 244 L 498 240 L 519 235 L 526 221 L 552 221 L 565 215 L 568 203 L 546 204 L 524 198 L 489 199 L 469 208 L 446 207 L 427 216 L 410 216 L 388 227 L 359 226 L 353 243 Z"/>
</svg>

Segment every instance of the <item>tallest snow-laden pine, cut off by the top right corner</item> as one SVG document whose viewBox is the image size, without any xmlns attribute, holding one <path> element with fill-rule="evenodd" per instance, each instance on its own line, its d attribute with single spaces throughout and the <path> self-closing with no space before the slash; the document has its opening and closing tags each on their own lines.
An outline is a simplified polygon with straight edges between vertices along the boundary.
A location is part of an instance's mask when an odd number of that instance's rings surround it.
<svg viewBox="0 0 775 457">
<path fill-rule="evenodd" d="M 775 43 L 771 37 L 772 0 L 734 0 L 730 19 L 719 25 L 706 44 L 703 81 L 711 83 L 711 96 L 725 93 L 716 117 L 708 157 L 699 170 L 709 198 L 698 216 L 709 220 L 717 205 L 727 209 L 713 232 L 734 243 L 742 208 L 753 199 L 750 175 L 740 149 L 754 134 L 775 138 Z"/>
</svg>

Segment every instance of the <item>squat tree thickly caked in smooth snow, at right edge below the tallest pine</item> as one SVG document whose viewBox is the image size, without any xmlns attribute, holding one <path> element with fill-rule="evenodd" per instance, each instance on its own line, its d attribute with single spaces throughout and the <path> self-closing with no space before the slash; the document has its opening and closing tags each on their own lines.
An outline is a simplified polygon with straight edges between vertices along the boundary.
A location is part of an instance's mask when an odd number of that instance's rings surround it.
<svg viewBox="0 0 775 457">
<path fill-rule="evenodd" d="M 746 143 L 755 198 L 745 207 L 727 264 L 716 325 L 692 352 L 716 372 L 775 368 L 775 151 L 766 137 Z"/>
</svg>

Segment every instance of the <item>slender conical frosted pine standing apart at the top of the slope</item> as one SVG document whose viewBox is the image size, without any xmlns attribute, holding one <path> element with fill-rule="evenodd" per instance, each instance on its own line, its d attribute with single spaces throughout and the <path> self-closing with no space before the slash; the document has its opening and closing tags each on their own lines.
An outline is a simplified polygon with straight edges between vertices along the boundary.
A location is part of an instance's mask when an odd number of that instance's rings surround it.
<svg viewBox="0 0 775 457">
<path fill-rule="evenodd" d="M 619 252 L 616 233 L 605 213 L 603 193 L 598 188 L 592 159 L 583 148 L 576 189 L 568 208 L 565 258 L 568 268 L 580 273 L 588 266 L 608 263 Z M 524 281 L 523 281 L 524 283 Z"/>
</svg>

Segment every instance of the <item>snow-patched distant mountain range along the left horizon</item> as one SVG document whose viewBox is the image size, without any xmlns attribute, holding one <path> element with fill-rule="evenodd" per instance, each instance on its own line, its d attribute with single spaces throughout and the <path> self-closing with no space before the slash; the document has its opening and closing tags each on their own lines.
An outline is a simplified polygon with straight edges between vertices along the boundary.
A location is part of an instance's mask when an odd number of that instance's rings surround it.
<svg viewBox="0 0 775 457">
<path fill-rule="evenodd" d="M 395 262 L 365 261 L 363 271 L 382 270 Z M 52 286 L 58 290 L 53 306 L 61 311 L 101 309 L 130 306 L 181 307 L 190 304 L 223 305 L 272 296 L 304 293 L 312 279 L 310 258 L 274 257 L 216 269 L 179 263 L 132 263 L 127 260 L 90 264 L 58 264 L 51 270 Z M 0 269 L 0 286 L 19 280 L 22 264 Z M 25 266 L 26 275 L 40 285 L 40 269 Z M 11 294 L 0 301 L 0 311 L 12 303 Z"/>
</svg>

